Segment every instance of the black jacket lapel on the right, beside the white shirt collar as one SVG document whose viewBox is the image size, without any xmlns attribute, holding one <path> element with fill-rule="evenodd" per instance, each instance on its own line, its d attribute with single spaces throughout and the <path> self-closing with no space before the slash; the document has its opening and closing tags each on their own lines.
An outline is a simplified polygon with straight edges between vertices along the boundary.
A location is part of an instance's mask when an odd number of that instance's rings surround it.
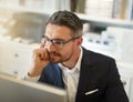
<svg viewBox="0 0 133 102">
<path fill-rule="evenodd" d="M 93 64 L 91 62 L 91 52 L 86 51 L 85 49 L 83 49 L 83 58 L 82 58 L 82 62 L 81 62 L 81 71 L 80 71 L 80 79 L 79 79 L 79 85 L 78 85 L 78 92 L 76 92 L 76 98 L 75 98 L 75 102 L 81 102 L 81 98 L 84 96 L 84 93 L 86 92 L 86 90 L 89 88 L 91 88 L 91 83 L 92 81 L 92 68 Z"/>
</svg>

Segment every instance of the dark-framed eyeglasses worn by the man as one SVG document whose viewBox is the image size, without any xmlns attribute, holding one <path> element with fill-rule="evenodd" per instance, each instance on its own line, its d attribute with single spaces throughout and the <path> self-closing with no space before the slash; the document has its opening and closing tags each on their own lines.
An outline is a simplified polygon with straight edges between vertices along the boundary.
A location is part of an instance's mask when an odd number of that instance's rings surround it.
<svg viewBox="0 0 133 102">
<path fill-rule="evenodd" d="M 41 42 L 42 42 L 42 44 L 44 44 L 44 47 L 49 47 L 50 43 L 52 43 L 57 49 L 62 49 L 64 47 L 64 44 L 69 43 L 70 41 L 73 41 L 73 40 L 75 40 L 75 39 L 78 39 L 80 37 L 81 35 L 74 37 L 74 38 L 72 38 L 72 39 L 70 39 L 68 41 L 64 41 L 62 39 L 50 39 L 47 35 L 43 35 Z"/>
</svg>

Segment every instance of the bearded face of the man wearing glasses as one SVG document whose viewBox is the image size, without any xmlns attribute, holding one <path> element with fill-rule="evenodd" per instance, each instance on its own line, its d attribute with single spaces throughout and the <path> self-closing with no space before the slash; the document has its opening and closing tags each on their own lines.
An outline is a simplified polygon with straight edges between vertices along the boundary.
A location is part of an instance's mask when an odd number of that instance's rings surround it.
<svg viewBox="0 0 133 102">
<path fill-rule="evenodd" d="M 71 60 L 74 51 L 76 51 L 76 45 L 75 45 L 76 40 L 71 40 L 68 43 L 62 44 L 61 48 L 58 48 L 57 45 L 58 43 L 54 44 L 54 41 L 65 42 L 73 38 L 72 33 L 73 31 L 64 26 L 61 27 L 51 23 L 47 26 L 44 35 L 49 40 L 45 41 L 44 48 L 49 52 L 50 62 L 60 63 Z M 51 41 L 53 41 L 53 43 Z"/>
</svg>

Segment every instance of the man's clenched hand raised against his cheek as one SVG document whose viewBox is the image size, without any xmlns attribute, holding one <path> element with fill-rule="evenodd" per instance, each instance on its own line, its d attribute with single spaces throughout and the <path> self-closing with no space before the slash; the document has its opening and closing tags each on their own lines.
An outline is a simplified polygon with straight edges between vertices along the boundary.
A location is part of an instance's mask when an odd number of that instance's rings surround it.
<svg viewBox="0 0 133 102">
<path fill-rule="evenodd" d="M 28 75 L 33 78 L 41 74 L 43 68 L 49 63 L 49 52 L 42 45 L 33 51 L 31 68 Z"/>
</svg>

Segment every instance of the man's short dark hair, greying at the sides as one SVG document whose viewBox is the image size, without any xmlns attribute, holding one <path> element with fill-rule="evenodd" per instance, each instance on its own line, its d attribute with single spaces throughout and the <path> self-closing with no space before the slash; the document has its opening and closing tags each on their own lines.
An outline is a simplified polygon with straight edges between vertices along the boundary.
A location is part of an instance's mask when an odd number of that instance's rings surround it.
<svg viewBox="0 0 133 102">
<path fill-rule="evenodd" d="M 48 20 L 47 24 L 65 26 L 70 28 L 74 35 L 82 35 L 83 23 L 81 19 L 71 11 L 57 11 Z"/>
</svg>

